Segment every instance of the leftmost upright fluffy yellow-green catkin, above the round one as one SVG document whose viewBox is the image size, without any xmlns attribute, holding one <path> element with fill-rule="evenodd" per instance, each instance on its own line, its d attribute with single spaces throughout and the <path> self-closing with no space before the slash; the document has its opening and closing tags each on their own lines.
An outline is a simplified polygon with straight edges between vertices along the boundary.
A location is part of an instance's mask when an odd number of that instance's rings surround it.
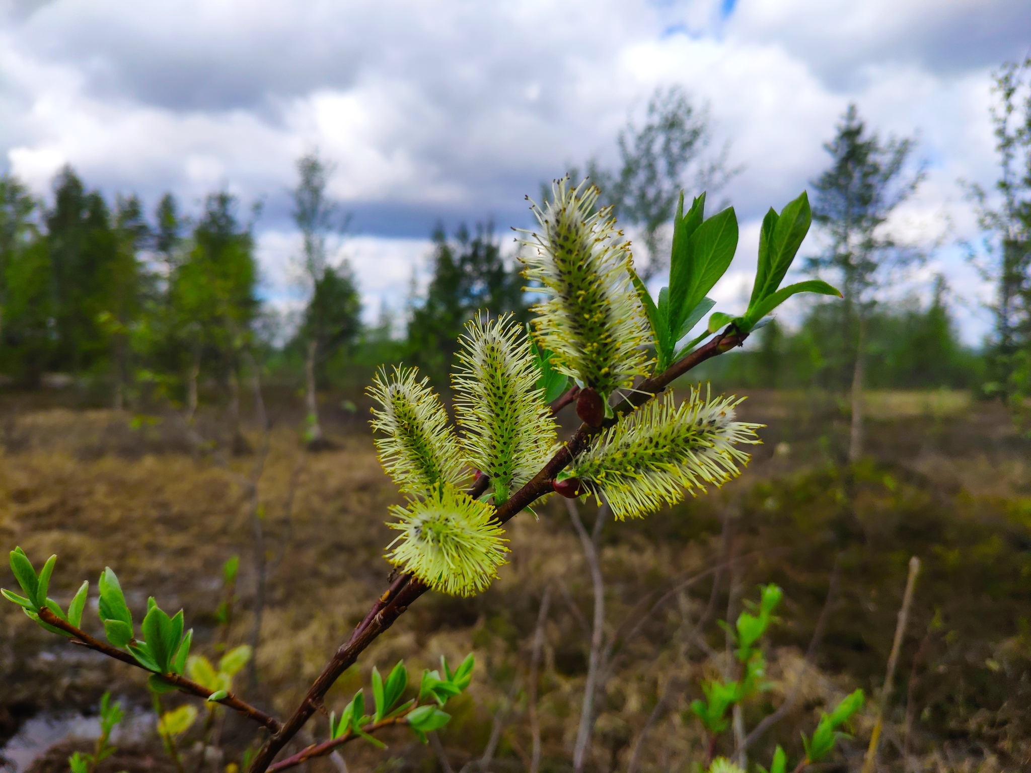
<svg viewBox="0 0 1031 773">
<path fill-rule="evenodd" d="M 380 370 L 368 394 L 379 404 L 372 409 L 372 429 L 383 433 L 374 441 L 379 462 L 403 493 L 423 495 L 438 483 L 459 485 L 466 474 L 447 413 L 429 378 L 415 380 L 418 372 Z"/>
</svg>

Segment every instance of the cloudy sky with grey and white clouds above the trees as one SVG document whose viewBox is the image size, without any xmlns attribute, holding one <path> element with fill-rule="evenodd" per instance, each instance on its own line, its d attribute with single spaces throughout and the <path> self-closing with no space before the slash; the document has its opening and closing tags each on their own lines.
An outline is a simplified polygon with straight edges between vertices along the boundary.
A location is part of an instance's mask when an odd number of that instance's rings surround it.
<svg viewBox="0 0 1031 773">
<path fill-rule="evenodd" d="M 264 292 L 289 305 L 287 189 L 318 147 L 373 317 L 403 302 L 434 223 L 527 225 L 540 180 L 614 164 L 619 129 L 679 85 L 742 167 L 718 289 L 735 311 L 759 219 L 826 165 L 855 101 L 919 136 L 928 179 L 896 225 L 945 236 L 907 287 L 945 271 L 974 340 L 986 289 L 954 246 L 975 236 L 958 179 L 994 179 L 991 71 L 1029 47 L 1027 0 L 0 0 L 0 168 L 41 195 L 70 163 L 148 206 L 223 187 L 262 200 Z"/>
</svg>

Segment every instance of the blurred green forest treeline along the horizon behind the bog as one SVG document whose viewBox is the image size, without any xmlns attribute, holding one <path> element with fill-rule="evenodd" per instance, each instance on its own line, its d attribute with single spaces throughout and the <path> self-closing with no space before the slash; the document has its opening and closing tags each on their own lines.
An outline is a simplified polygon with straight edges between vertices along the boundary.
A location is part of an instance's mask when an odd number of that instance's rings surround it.
<svg viewBox="0 0 1031 773">
<path fill-rule="evenodd" d="M 809 183 L 817 239 L 805 270 L 843 291 L 816 303 L 800 324 L 774 320 L 746 350 L 703 373 L 727 386 L 969 389 L 1023 404 L 1031 390 L 1031 60 L 995 74 L 993 108 L 999 178 L 966 186 L 983 239 L 967 245 L 996 289 L 994 329 L 965 346 L 938 276 L 929 301 L 887 300 L 904 272 L 934 245 L 893 232 L 893 213 L 924 179 L 914 139 L 883 137 L 850 106 L 825 145 L 826 170 Z M 710 197 L 737 170 L 726 148 L 707 153 L 708 125 L 683 90 L 656 92 L 643 125 L 620 133 L 621 164 L 586 163 L 611 206 L 633 229 L 645 278 L 663 267 L 679 192 Z M 446 384 L 455 341 L 478 310 L 529 316 L 516 256 L 485 223 L 433 233 L 424 291 L 398 299 L 363 325 L 360 288 L 346 260 L 333 260 L 346 216 L 328 196 L 331 162 L 297 162 L 293 216 L 305 300 L 298 318 L 269 310 L 259 292 L 255 227 L 225 190 L 187 212 L 172 194 L 147 211 L 137 196 L 91 190 L 71 167 L 43 201 L 16 177 L 0 176 L 0 374 L 5 389 L 75 384 L 94 404 L 190 415 L 204 400 L 236 406 L 259 380 L 302 385 L 309 433 L 321 436 L 315 393 L 357 390 L 381 364 L 419 365 Z M 574 180 L 579 176 L 570 169 Z M 345 246 L 345 243 L 344 243 Z M 805 248 L 803 248 L 803 254 Z M 360 258 L 360 256 L 357 256 Z M 854 405 L 858 413 L 859 404 Z"/>
</svg>

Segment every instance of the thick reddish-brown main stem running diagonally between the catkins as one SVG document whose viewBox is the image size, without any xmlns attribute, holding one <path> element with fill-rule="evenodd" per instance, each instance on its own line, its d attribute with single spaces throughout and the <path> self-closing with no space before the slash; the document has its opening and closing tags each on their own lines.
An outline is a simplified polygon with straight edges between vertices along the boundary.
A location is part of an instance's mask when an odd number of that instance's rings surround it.
<svg viewBox="0 0 1031 773">
<path fill-rule="evenodd" d="M 735 346 L 740 346 L 744 343 L 744 339 L 747 338 L 747 333 L 741 333 L 736 330 L 733 326 L 728 327 L 722 334 L 714 336 L 707 343 L 699 346 L 697 349 L 692 351 L 686 358 L 675 363 L 672 367 L 666 369 L 662 373 L 653 376 L 652 378 L 646 378 L 641 383 L 639 383 L 635 391 L 630 393 L 622 403 L 620 403 L 616 408 L 617 413 L 623 413 L 628 410 L 642 405 L 647 400 L 651 399 L 652 395 L 657 395 L 663 392 L 666 386 L 668 386 L 673 380 L 679 378 L 681 375 L 687 373 L 689 370 L 694 368 L 696 365 L 709 360 L 718 355 L 722 355 L 725 351 L 729 351 Z M 610 424 L 614 419 L 608 419 Z M 563 445 L 555 456 L 544 465 L 544 467 L 533 476 L 533 478 L 527 482 L 522 489 L 520 489 L 516 494 L 508 498 L 496 511 L 495 516 L 498 522 L 505 524 L 514 517 L 518 513 L 522 512 L 524 508 L 532 505 L 537 499 L 539 499 L 544 494 L 553 491 L 552 481 L 555 476 L 559 474 L 572 460 L 587 446 L 588 440 L 594 435 L 597 430 L 588 427 L 586 424 L 581 424 L 579 429 L 573 434 L 573 436 Z M 484 475 L 481 478 L 486 478 Z M 483 485 L 480 494 L 487 490 L 487 480 L 477 480 L 474 483 L 473 491 L 475 491 L 477 484 Z M 472 494 L 472 492 L 470 492 Z M 475 496 L 475 495 L 474 495 Z M 395 590 L 397 587 L 397 590 Z M 279 753 L 287 742 L 290 741 L 297 733 L 304 727 L 305 722 L 311 717 L 311 715 L 317 711 L 318 707 L 322 705 L 323 698 L 329 691 L 333 683 L 339 678 L 346 669 L 358 660 L 358 656 L 371 644 L 379 634 L 394 625 L 396 620 L 404 611 L 412 604 L 415 599 L 426 593 L 429 589 L 423 584 L 420 580 L 407 575 L 402 575 L 398 577 L 394 584 L 391 585 L 388 591 L 379 597 L 379 599 L 372 605 L 369 613 L 365 616 L 365 619 L 359 624 L 358 628 L 352 633 L 351 638 L 346 642 L 341 644 L 330 662 L 326 664 L 322 673 L 315 678 L 311 686 L 308 687 L 308 692 L 305 694 L 304 699 L 298 705 L 297 709 L 294 711 L 293 715 L 287 719 L 282 728 L 274 733 L 272 736 L 265 741 L 265 744 L 255 755 L 254 762 L 251 764 L 251 769 L 248 773 L 265 773 L 268 770 L 269 765 L 275 759 L 275 755 Z"/>
</svg>

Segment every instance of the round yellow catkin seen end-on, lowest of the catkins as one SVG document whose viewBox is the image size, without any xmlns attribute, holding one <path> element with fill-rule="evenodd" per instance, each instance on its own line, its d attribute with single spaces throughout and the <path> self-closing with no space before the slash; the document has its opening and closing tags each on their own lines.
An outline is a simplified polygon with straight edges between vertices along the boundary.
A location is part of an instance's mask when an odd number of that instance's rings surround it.
<svg viewBox="0 0 1031 773">
<path fill-rule="evenodd" d="M 435 591 L 473 596 L 488 587 L 505 563 L 504 531 L 494 507 L 450 485 L 436 486 L 407 507 L 394 505 L 401 532 L 387 546 L 387 559 Z M 393 549 L 391 549 L 393 548 Z"/>
</svg>

